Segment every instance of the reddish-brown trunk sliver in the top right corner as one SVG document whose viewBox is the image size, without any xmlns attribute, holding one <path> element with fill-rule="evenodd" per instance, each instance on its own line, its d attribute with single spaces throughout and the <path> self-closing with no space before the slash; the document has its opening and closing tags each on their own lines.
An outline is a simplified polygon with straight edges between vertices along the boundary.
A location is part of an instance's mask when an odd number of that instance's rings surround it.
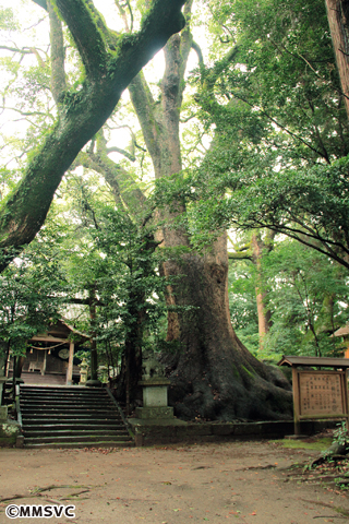
<svg viewBox="0 0 349 524">
<path fill-rule="evenodd" d="M 327 19 L 349 118 L 349 2 L 326 0 Z"/>
</svg>

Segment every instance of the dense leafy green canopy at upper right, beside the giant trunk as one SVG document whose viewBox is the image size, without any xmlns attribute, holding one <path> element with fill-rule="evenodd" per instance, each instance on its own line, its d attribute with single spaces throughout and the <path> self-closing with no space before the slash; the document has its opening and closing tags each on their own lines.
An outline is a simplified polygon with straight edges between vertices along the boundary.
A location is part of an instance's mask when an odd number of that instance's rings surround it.
<svg viewBox="0 0 349 524">
<path fill-rule="evenodd" d="M 348 267 L 348 121 L 324 5 L 210 4 L 221 8 L 220 25 L 239 41 L 197 74 L 196 100 L 219 147 L 191 179 L 171 180 L 172 198 L 190 203 L 196 227 L 267 227 Z M 213 324 L 203 317 L 202 325 L 212 341 Z"/>
</svg>

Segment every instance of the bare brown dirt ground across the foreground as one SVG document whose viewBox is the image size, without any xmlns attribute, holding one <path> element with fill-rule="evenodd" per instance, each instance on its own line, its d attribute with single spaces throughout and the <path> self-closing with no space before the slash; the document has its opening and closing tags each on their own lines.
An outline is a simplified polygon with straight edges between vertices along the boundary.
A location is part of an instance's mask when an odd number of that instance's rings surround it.
<svg viewBox="0 0 349 524">
<path fill-rule="evenodd" d="M 346 492 L 321 481 L 304 483 L 300 468 L 289 469 L 317 455 L 318 451 L 276 442 L 1 449 L 0 524 L 345 522 Z M 69 510 L 75 516 L 10 519 L 5 509 L 13 504 L 75 505 Z"/>
</svg>

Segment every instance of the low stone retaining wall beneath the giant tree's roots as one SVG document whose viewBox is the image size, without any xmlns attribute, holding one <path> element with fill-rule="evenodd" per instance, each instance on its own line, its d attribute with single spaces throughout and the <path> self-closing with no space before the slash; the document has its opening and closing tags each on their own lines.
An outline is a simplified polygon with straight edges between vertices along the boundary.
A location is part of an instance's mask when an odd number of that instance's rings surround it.
<svg viewBox="0 0 349 524">
<path fill-rule="evenodd" d="M 136 445 L 169 443 L 224 442 L 233 440 L 282 439 L 293 434 L 293 421 L 266 422 L 183 422 L 165 421 L 151 425 L 140 419 L 129 419 Z M 334 428 L 338 420 L 311 420 L 301 422 L 303 434 L 314 434 Z"/>
</svg>

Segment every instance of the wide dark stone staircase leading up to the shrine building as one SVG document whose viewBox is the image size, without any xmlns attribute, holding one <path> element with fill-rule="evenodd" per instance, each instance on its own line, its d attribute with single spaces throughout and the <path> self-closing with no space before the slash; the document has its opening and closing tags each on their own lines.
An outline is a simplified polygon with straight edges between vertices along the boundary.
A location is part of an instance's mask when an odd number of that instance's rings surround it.
<svg viewBox="0 0 349 524">
<path fill-rule="evenodd" d="M 134 445 L 107 388 L 21 385 L 20 409 L 25 448 Z"/>
</svg>

